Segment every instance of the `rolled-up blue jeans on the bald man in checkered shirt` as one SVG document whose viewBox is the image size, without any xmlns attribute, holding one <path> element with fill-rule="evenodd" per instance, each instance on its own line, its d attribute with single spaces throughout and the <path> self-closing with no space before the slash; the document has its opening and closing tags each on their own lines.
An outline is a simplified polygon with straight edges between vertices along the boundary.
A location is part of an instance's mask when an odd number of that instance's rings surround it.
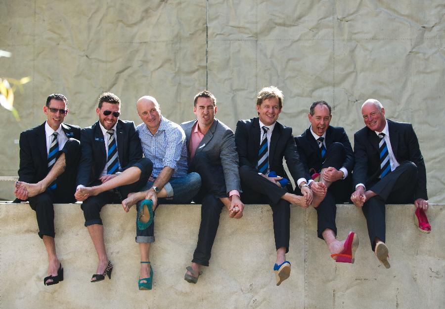
<svg viewBox="0 0 445 309">
<path fill-rule="evenodd" d="M 153 182 L 149 181 L 140 191 L 146 191 L 152 186 Z M 184 177 L 170 178 L 170 181 L 164 186 L 167 197 L 159 198 L 157 207 L 160 204 L 189 204 L 200 188 L 201 176 L 198 173 L 192 172 Z M 140 206 L 141 201 L 137 202 L 136 209 L 139 209 Z M 136 224 L 136 242 L 154 242 L 154 215 L 155 212 L 153 212 L 153 223 L 145 230 L 139 230 Z"/>
</svg>

